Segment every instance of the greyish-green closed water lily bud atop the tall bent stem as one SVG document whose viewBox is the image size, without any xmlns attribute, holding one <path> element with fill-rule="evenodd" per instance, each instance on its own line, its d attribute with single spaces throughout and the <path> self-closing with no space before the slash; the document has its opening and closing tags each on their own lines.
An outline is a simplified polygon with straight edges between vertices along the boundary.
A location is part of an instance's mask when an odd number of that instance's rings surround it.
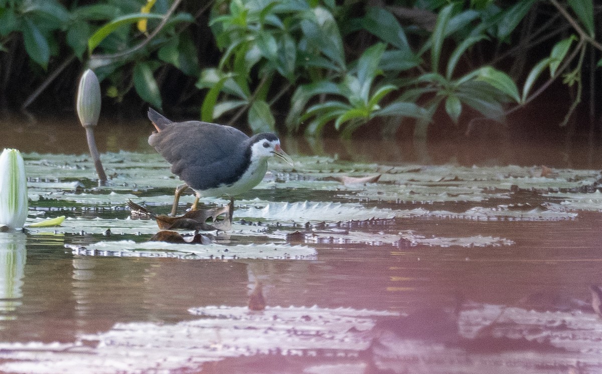
<svg viewBox="0 0 602 374">
<path fill-rule="evenodd" d="M 96 74 L 88 69 L 79 79 L 77 114 L 84 127 L 96 126 L 101 115 L 101 84 Z"/>
</svg>

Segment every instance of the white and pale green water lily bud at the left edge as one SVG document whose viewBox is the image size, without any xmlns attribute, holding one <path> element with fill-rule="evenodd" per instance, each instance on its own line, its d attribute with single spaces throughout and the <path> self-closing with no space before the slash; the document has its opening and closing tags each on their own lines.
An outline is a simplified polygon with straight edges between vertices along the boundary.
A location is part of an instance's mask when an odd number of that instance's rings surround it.
<svg viewBox="0 0 602 374">
<path fill-rule="evenodd" d="M 27 219 L 25 163 L 17 149 L 0 155 L 0 225 L 22 228 Z"/>
</svg>

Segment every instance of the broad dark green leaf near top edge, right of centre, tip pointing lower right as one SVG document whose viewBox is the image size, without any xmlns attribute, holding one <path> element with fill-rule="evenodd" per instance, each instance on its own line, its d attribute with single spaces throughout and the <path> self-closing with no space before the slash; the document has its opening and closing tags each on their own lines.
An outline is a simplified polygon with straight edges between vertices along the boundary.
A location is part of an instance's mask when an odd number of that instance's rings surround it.
<svg viewBox="0 0 602 374">
<path fill-rule="evenodd" d="M 376 35 L 383 42 L 389 43 L 402 51 L 412 52 L 406 33 L 397 18 L 388 10 L 380 7 L 370 7 L 361 22 L 368 32 Z"/>
</svg>

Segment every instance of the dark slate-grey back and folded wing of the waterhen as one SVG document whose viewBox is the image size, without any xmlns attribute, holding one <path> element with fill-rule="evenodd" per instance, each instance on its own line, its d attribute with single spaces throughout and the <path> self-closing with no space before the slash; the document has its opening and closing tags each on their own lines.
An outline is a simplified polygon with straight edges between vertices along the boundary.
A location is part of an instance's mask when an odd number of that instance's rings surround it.
<svg viewBox="0 0 602 374">
<path fill-rule="evenodd" d="M 173 123 L 149 137 L 178 175 L 195 190 L 231 184 L 247 162 L 249 137 L 230 126 L 199 121 Z"/>
</svg>

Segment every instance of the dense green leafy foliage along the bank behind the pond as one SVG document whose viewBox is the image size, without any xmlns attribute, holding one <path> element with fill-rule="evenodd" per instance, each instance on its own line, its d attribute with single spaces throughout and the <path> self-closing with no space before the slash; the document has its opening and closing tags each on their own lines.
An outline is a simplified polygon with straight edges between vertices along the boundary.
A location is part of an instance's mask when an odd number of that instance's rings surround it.
<svg viewBox="0 0 602 374">
<path fill-rule="evenodd" d="M 0 104 L 71 103 L 90 67 L 105 104 L 426 137 L 437 113 L 458 129 L 504 122 L 563 78 L 564 125 L 584 82 L 597 109 L 600 13 L 593 0 L 0 0 Z"/>
</svg>

